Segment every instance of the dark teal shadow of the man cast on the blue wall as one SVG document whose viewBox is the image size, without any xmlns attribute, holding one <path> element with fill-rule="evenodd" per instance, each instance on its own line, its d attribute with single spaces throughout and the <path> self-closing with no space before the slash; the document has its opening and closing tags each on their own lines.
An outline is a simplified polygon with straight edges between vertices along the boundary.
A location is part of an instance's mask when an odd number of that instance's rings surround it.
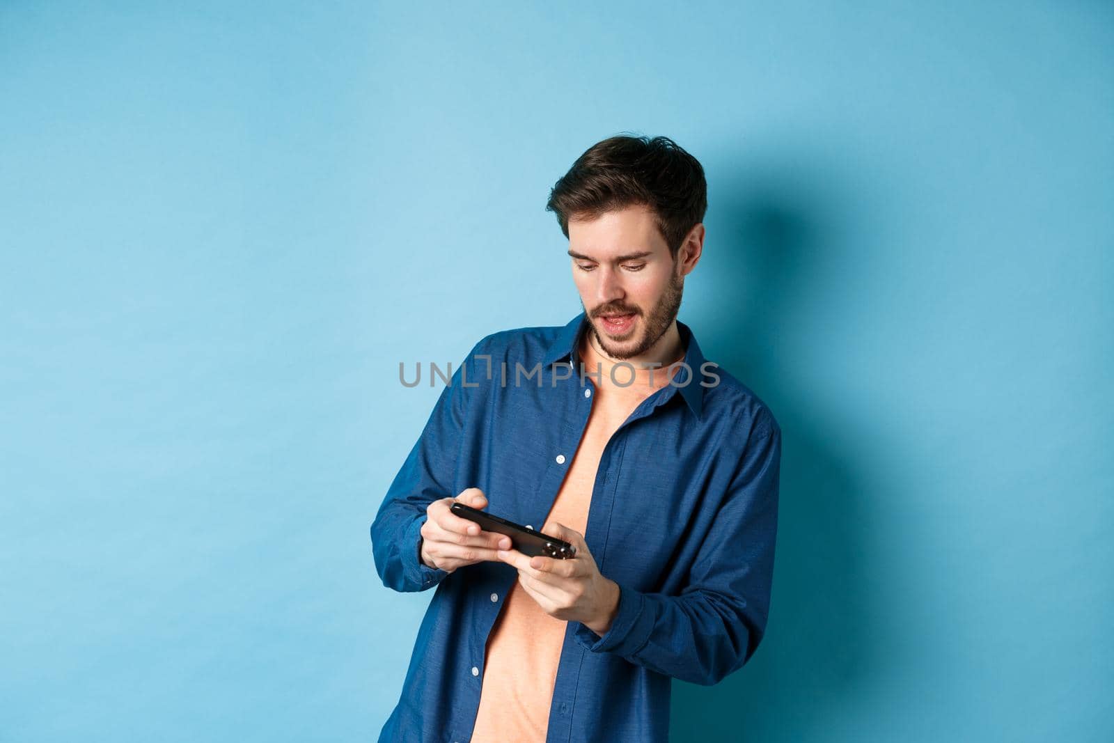
<svg viewBox="0 0 1114 743">
<path fill-rule="evenodd" d="M 783 431 L 770 618 L 741 671 L 712 687 L 674 681 L 675 742 L 830 740 L 836 707 L 866 692 L 879 657 L 877 597 L 864 578 L 885 556 L 871 545 L 866 473 L 853 470 L 851 437 L 841 436 L 853 423 L 825 419 L 807 383 L 778 362 L 810 358 L 808 349 L 786 353 L 803 335 L 794 313 L 814 306 L 801 293 L 824 282 L 817 264 L 850 246 L 827 195 L 775 183 L 720 187 L 714 244 L 732 250 L 707 262 L 714 314 L 698 322 L 705 353 L 712 346 L 710 358 L 752 388 Z"/>
</svg>

